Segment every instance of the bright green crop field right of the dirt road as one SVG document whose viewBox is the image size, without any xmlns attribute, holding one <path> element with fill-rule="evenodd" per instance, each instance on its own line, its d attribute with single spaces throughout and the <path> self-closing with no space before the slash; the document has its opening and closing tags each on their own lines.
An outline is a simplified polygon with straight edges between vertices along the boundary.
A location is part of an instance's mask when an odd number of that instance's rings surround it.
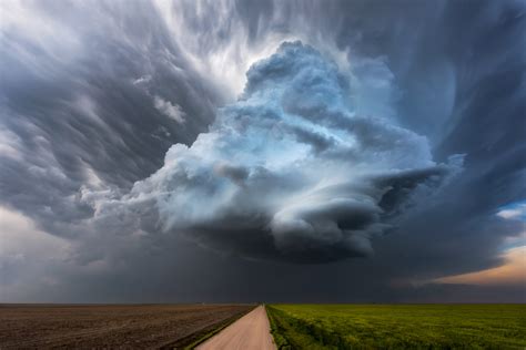
<svg viewBox="0 0 526 350">
<path fill-rule="evenodd" d="M 526 349 L 526 305 L 272 305 L 280 349 Z"/>
</svg>

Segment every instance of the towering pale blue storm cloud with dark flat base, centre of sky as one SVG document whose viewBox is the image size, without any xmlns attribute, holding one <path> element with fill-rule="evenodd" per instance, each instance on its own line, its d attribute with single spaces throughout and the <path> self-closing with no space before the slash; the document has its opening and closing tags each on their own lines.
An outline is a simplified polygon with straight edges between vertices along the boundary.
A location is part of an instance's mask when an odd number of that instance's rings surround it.
<svg viewBox="0 0 526 350">
<path fill-rule="evenodd" d="M 246 75 L 190 147 L 173 145 L 122 198 L 91 195 L 95 219 L 148 204 L 165 231 L 206 247 L 328 261 L 370 255 L 408 203 L 462 168 L 462 156 L 437 164 L 425 137 L 356 114 L 348 76 L 312 47 L 285 42 Z"/>
</svg>

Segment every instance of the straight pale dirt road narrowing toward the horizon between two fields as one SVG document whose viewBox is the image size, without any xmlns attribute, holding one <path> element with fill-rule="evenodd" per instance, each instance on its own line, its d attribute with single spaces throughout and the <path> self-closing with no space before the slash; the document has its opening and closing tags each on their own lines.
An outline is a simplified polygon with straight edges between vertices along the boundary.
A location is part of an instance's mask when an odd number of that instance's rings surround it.
<svg viewBox="0 0 526 350">
<path fill-rule="evenodd" d="M 275 350 L 265 308 L 259 306 L 196 349 Z"/>
</svg>

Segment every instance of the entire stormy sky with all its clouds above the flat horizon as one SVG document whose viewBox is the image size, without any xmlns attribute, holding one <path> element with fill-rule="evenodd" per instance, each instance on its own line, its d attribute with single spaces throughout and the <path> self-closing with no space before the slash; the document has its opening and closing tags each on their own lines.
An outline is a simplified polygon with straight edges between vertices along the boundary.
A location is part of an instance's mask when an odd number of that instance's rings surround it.
<svg viewBox="0 0 526 350">
<path fill-rule="evenodd" d="M 0 2 L 1 302 L 526 302 L 526 2 Z"/>
</svg>

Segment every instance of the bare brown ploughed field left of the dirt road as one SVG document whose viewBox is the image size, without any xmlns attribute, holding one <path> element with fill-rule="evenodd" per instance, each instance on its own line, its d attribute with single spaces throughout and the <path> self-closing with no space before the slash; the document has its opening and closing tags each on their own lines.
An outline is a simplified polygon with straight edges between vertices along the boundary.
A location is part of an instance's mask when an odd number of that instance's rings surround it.
<svg viewBox="0 0 526 350">
<path fill-rule="evenodd" d="M 0 349 L 175 347 L 254 306 L 0 305 Z"/>
</svg>

